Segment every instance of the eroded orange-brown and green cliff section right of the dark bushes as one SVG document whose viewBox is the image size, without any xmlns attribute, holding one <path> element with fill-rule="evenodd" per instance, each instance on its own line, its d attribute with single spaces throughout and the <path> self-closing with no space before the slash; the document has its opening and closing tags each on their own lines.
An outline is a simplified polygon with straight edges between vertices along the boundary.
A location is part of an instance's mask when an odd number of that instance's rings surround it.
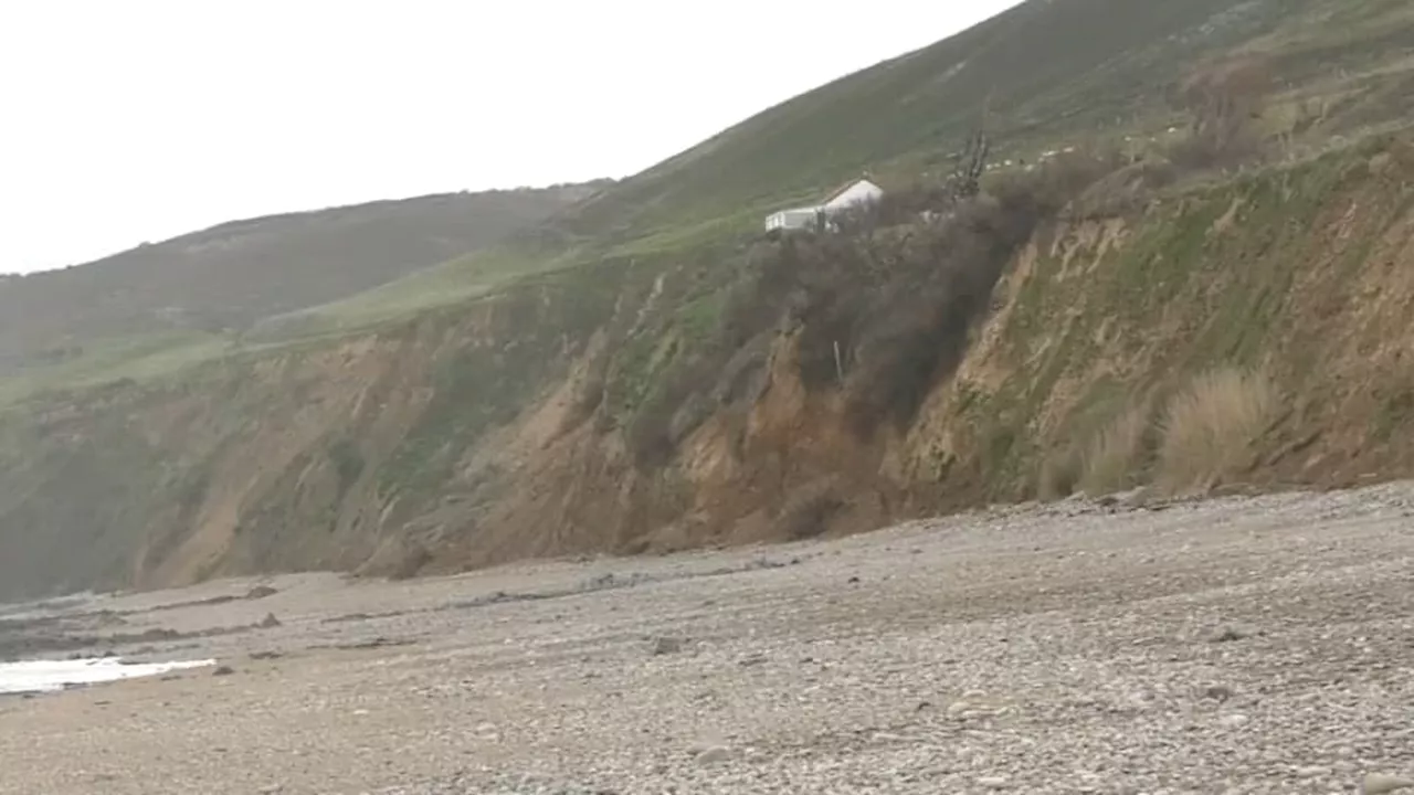
<svg viewBox="0 0 1414 795">
<path fill-rule="evenodd" d="M 1414 149 L 1403 141 L 1041 235 L 899 450 L 930 506 L 1035 497 L 1041 470 L 1198 373 L 1270 378 L 1253 485 L 1411 472 Z M 1234 484 L 1229 484 L 1234 485 Z"/>
</svg>

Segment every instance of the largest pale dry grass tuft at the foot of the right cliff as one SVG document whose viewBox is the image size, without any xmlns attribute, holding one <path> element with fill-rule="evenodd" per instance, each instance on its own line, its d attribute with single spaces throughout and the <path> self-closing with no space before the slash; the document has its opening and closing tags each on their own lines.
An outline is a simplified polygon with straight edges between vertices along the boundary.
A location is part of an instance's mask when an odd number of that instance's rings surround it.
<svg viewBox="0 0 1414 795">
<path fill-rule="evenodd" d="M 1159 487 L 1202 492 L 1249 470 L 1278 406 L 1275 386 L 1261 373 L 1219 369 L 1195 378 L 1161 424 Z"/>
</svg>

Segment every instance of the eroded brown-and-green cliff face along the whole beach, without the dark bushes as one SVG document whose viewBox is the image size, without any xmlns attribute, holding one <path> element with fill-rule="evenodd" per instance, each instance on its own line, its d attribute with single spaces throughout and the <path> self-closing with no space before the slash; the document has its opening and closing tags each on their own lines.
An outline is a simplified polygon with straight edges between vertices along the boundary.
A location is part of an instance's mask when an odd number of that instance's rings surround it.
<svg viewBox="0 0 1414 795">
<path fill-rule="evenodd" d="M 781 324 L 682 402 L 663 455 L 635 454 L 612 385 L 690 345 L 645 318 L 697 306 L 673 291 L 697 265 L 605 263 L 170 383 L 49 396 L 0 422 L 0 598 L 666 552 L 1029 499 L 1116 416 L 1225 365 L 1281 396 L 1241 482 L 1410 475 L 1411 185 L 1414 149 L 1379 141 L 1045 224 L 904 423 L 861 427 Z"/>
</svg>

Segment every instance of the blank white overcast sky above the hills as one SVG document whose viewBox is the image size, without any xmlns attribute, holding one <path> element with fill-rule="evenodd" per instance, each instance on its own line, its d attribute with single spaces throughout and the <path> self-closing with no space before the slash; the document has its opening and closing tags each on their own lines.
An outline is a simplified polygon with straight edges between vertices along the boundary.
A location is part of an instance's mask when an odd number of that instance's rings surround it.
<svg viewBox="0 0 1414 795">
<path fill-rule="evenodd" d="M 0 3 L 0 273 L 641 171 L 1017 0 Z"/>
</svg>

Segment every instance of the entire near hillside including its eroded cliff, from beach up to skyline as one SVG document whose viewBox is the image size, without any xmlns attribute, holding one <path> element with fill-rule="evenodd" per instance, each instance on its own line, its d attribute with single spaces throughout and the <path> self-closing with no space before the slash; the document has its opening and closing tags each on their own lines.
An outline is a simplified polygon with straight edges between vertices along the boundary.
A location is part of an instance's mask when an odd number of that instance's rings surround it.
<svg viewBox="0 0 1414 795">
<path fill-rule="evenodd" d="M 1035 0 L 239 345 L 109 338 L 0 412 L 0 597 L 1414 474 L 1411 81 L 1403 1 Z"/>
</svg>

